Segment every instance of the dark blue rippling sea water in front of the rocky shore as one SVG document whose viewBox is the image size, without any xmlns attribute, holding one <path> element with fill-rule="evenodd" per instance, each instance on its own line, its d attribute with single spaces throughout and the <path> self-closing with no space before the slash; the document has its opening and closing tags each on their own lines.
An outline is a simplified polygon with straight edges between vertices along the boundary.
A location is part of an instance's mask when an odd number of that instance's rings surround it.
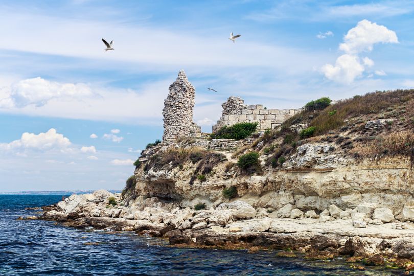
<svg viewBox="0 0 414 276">
<path fill-rule="evenodd" d="M 167 247 L 132 233 L 81 231 L 50 221 L 16 220 L 61 195 L 0 195 L 0 275 L 400 275 L 351 269 L 341 260 L 276 258 L 275 252 Z"/>
</svg>

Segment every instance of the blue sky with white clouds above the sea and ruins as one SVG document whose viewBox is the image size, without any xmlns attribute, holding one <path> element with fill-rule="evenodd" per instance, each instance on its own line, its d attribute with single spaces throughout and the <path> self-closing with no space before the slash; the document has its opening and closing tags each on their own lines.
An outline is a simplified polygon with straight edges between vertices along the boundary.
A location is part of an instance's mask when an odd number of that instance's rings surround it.
<svg viewBox="0 0 414 276">
<path fill-rule="evenodd" d="M 412 88 L 413 15 L 399 0 L 2 1 L 0 192 L 122 189 L 180 70 L 205 132 L 229 96 L 298 108 Z"/>
</svg>

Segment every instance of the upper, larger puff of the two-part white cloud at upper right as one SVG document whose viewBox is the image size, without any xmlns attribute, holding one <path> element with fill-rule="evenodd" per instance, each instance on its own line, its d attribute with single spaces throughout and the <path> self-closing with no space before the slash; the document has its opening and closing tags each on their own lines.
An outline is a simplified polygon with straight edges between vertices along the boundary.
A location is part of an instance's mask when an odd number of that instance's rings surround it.
<svg viewBox="0 0 414 276">
<path fill-rule="evenodd" d="M 385 26 L 363 19 L 343 37 L 339 50 L 347 54 L 371 52 L 376 43 L 398 43 L 397 34 Z"/>
</svg>

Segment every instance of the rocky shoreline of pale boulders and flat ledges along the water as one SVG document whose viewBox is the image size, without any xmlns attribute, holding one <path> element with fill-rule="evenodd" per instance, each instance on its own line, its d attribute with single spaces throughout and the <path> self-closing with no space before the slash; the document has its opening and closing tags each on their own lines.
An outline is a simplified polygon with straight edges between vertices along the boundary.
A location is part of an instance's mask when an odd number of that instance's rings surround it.
<svg viewBox="0 0 414 276">
<path fill-rule="evenodd" d="M 372 203 L 354 210 L 331 205 L 320 214 L 289 207 L 268 213 L 235 200 L 196 211 L 156 197 L 123 201 L 120 194 L 100 190 L 45 206 L 38 219 L 81 229 L 168 238 L 176 247 L 249 252 L 279 249 L 286 251 L 279 252 L 280 257 L 294 256 L 295 252 L 312 260 L 341 256 L 349 262 L 362 262 L 362 266 L 355 266 L 359 269 L 384 265 L 405 269 L 407 274 L 414 271 L 414 223 L 390 219 L 384 208 L 375 208 Z"/>
</svg>

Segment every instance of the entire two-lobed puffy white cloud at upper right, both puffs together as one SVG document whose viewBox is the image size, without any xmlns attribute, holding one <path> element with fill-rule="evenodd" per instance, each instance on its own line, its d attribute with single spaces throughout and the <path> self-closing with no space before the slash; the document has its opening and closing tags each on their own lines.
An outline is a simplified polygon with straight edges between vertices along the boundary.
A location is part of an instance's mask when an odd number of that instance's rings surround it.
<svg viewBox="0 0 414 276">
<path fill-rule="evenodd" d="M 339 56 L 335 65 L 325 64 L 321 67 L 321 72 L 329 80 L 346 84 L 362 76 L 365 67 L 374 66 L 374 61 L 368 57 L 362 58 L 361 63 L 360 53 L 372 51 L 376 43 L 398 43 L 394 31 L 366 19 L 359 21 L 356 27 L 349 30 L 343 40 L 344 42 L 339 45 L 339 50 L 346 54 Z"/>
</svg>

